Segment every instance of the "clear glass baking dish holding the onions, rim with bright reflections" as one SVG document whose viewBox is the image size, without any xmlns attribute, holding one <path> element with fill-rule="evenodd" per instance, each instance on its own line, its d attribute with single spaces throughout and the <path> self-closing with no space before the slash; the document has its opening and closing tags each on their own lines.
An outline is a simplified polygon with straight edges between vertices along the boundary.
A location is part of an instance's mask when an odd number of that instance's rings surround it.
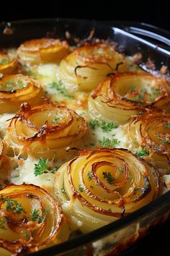
<svg viewBox="0 0 170 256">
<path fill-rule="evenodd" d="M 164 64 L 170 67 L 170 33 L 157 27 L 134 22 L 96 22 L 88 20 L 45 19 L 0 24 L 0 48 L 19 46 L 24 40 L 66 38 L 66 31 L 73 38 L 87 38 L 91 29 L 95 37 L 110 38 L 125 48 L 128 55 L 138 51 L 143 60 L 154 59 L 156 69 Z M 88 234 L 71 238 L 30 255 L 120 255 L 131 244 L 146 235 L 152 226 L 163 223 L 170 215 L 170 191 L 143 208 L 136 210 L 107 226 Z"/>
</svg>

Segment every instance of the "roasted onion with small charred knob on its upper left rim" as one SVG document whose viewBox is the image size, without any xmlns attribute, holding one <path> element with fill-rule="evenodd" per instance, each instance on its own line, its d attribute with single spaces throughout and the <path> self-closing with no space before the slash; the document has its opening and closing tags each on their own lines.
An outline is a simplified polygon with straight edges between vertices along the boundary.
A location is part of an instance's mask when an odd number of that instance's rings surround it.
<svg viewBox="0 0 170 256">
<path fill-rule="evenodd" d="M 14 152 L 53 158 L 55 150 L 71 145 L 86 133 L 86 121 L 75 111 L 53 103 L 31 107 L 23 103 L 6 132 Z"/>
</svg>

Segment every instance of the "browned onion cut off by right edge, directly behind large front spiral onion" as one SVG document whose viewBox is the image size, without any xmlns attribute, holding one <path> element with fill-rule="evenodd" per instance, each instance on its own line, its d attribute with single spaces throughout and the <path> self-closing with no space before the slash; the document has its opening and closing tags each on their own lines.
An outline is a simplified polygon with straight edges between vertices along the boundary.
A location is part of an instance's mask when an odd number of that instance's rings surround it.
<svg viewBox="0 0 170 256">
<path fill-rule="evenodd" d="M 170 167 L 170 111 L 148 110 L 127 124 L 129 148 L 146 148 L 146 160 L 158 168 Z"/>
</svg>

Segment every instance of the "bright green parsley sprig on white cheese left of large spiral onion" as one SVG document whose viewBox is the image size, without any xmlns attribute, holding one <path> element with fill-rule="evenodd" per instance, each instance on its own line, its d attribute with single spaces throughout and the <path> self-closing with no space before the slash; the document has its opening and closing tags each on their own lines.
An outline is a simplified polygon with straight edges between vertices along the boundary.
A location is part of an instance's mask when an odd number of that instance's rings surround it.
<svg viewBox="0 0 170 256">
<path fill-rule="evenodd" d="M 55 174 L 58 171 L 58 168 L 49 169 L 48 168 L 48 159 L 45 160 L 43 158 L 40 158 L 37 163 L 35 163 L 35 176 L 41 175 L 41 174 Z"/>
</svg>

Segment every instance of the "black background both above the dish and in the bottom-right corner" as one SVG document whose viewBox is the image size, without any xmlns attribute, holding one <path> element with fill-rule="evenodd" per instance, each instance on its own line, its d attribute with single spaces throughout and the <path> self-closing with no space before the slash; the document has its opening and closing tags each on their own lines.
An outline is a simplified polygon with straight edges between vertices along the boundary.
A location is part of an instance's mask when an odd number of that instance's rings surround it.
<svg viewBox="0 0 170 256">
<path fill-rule="evenodd" d="M 0 0 L 2 2 L 2 0 Z M 42 0 L 7 1 L 0 3 L 0 22 L 68 17 L 88 20 L 126 20 L 145 22 L 170 31 L 168 1 L 152 0 Z M 170 222 L 159 227 L 138 243 L 127 256 L 170 256 Z M 126 256 L 125 255 L 125 256 Z"/>
</svg>

